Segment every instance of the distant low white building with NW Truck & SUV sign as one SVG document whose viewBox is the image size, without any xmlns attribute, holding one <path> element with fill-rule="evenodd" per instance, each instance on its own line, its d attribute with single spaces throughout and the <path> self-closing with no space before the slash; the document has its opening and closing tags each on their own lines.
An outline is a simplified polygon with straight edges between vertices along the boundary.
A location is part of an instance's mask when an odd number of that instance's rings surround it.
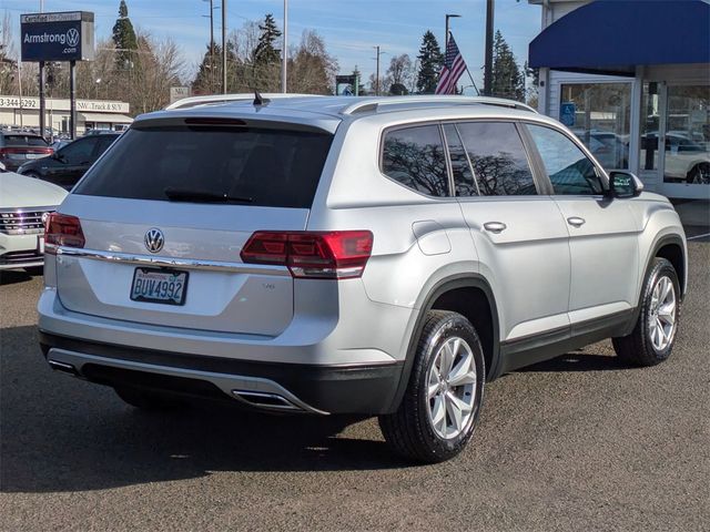
<svg viewBox="0 0 710 532">
<path fill-rule="evenodd" d="M 69 133 L 69 100 L 48 98 L 45 102 L 47 127 Z M 129 111 L 126 102 L 77 100 L 77 133 L 81 135 L 87 130 L 123 131 L 133 122 Z M 0 95 L 0 124 L 39 127 L 40 99 Z"/>
</svg>

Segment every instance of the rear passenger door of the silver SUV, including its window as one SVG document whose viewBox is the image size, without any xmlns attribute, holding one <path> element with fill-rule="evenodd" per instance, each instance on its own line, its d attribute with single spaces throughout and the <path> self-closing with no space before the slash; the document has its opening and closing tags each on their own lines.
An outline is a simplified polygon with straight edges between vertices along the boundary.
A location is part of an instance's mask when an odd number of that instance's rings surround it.
<svg viewBox="0 0 710 532">
<path fill-rule="evenodd" d="M 555 202 L 541 195 L 513 122 L 444 126 L 456 195 L 481 274 L 496 294 L 500 339 L 569 326 L 569 247 Z"/>
</svg>

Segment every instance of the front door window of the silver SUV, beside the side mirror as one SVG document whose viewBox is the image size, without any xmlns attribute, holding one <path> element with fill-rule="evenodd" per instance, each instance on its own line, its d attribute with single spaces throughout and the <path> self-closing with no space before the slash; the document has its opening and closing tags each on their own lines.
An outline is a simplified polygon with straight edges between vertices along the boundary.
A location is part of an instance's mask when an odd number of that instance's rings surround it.
<svg viewBox="0 0 710 532">
<path fill-rule="evenodd" d="M 601 182 L 587 155 L 559 131 L 542 125 L 527 125 L 542 158 L 555 194 L 601 194 Z"/>
</svg>

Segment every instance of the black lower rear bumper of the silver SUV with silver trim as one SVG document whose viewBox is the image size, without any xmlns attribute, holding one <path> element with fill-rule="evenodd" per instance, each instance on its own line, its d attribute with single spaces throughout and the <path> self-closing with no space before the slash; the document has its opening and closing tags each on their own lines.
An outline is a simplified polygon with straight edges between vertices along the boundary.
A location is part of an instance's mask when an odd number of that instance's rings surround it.
<svg viewBox="0 0 710 532">
<path fill-rule="evenodd" d="M 403 370 L 402 362 L 255 362 L 126 348 L 47 332 L 40 332 L 40 344 L 52 368 L 93 382 L 321 415 L 390 412 Z"/>
</svg>

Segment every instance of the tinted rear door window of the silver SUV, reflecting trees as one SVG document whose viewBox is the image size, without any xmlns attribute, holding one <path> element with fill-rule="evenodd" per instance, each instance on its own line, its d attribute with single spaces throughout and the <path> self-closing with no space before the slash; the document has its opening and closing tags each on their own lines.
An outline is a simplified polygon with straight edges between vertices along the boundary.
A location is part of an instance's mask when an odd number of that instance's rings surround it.
<svg viewBox="0 0 710 532">
<path fill-rule="evenodd" d="M 510 122 L 457 124 L 484 196 L 537 194 L 520 135 Z"/>
</svg>

